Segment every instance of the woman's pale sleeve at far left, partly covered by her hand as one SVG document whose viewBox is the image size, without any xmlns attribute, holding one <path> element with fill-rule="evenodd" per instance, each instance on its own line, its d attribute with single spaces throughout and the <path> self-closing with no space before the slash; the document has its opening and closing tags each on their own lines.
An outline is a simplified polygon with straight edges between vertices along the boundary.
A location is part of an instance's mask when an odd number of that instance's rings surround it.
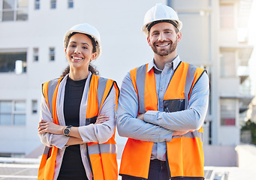
<svg viewBox="0 0 256 180">
<path fill-rule="evenodd" d="M 50 110 L 47 106 L 47 101 L 42 95 L 41 98 L 41 115 L 40 120 L 53 121 Z M 64 136 L 62 134 L 53 134 L 53 133 L 39 133 L 39 137 L 41 142 L 48 147 L 56 146 L 57 148 L 64 148 L 66 143 L 68 142 L 69 137 Z"/>
</svg>

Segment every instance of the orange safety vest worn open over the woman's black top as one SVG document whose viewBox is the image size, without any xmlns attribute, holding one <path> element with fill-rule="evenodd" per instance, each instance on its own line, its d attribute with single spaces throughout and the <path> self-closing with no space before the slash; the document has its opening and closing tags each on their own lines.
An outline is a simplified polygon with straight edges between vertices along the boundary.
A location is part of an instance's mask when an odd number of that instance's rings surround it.
<svg viewBox="0 0 256 180">
<path fill-rule="evenodd" d="M 61 81 L 62 77 L 43 84 L 43 95 L 53 115 L 53 122 L 56 124 L 59 124 L 56 115 L 56 98 Z M 92 74 L 88 95 L 89 106 L 87 106 L 86 109 L 86 125 L 95 123 L 101 111 L 101 107 L 113 87 L 116 89 L 115 104 L 117 107 L 119 89 L 116 82 Z M 51 148 L 45 146 L 38 169 L 38 179 L 53 180 L 57 152 L 58 148 L 55 146 Z M 92 169 L 92 178 L 94 180 L 117 180 L 118 166 L 116 161 L 115 133 L 103 144 L 98 144 L 97 142 L 87 143 L 87 153 L 89 165 Z"/>
</svg>

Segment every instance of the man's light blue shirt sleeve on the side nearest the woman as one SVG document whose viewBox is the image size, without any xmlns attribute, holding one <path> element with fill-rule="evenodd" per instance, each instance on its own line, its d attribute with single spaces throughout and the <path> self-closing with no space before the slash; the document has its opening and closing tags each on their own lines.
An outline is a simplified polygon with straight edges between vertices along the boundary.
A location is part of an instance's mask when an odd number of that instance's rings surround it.
<svg viewBox="0 0 256 180">
<path fill-rule="evenodd" d="M 119 105 L 116 112 L 116 125 L 120 136 L 149 142 L 170 141 L 173 130 L 157 124 L 142 121 L 137 117 L 138 100 L 131 76 L 128 73 L 122 82 Z"/>
</svg>

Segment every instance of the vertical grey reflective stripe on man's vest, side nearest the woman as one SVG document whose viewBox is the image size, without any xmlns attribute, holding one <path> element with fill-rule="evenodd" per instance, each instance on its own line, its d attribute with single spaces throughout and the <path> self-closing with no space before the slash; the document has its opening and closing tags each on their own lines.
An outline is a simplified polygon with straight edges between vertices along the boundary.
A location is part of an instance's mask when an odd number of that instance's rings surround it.
<svg viewBox="0 0 256 180">
<path fill-rule="evenodd" d="M 139 113 L 146 113 L 145 110 L 145 77 L 146 77 L 146 65 L 140 66 L 137 68 L 136 74 L 136 86 L 138 93 L 139 101 Z"/>
</svg>

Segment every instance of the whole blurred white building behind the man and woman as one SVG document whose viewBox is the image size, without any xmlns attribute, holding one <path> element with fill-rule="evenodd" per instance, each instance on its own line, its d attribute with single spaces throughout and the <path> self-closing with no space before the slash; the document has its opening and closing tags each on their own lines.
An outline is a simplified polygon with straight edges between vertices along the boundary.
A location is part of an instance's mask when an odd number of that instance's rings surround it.
<svg viewBox="0 0 256 180">
<path fill-rule="evenodd" d="M 141 28 L 146 10 L 156 3 L 170 5 L 182 20 L 182 61 L 209 74 L 209 110 L 203 124 L 206 156 L 212 149 L 216 155 L 224 149 L 227 158 L 235 156 L 239 121 L 253 98 L 248 77 L 253 46 L 246 31 L 251 1 L 0 0 L 0 156 L 26 157 L 39 151 L 41 83 L 59 77 L 68 65 L 65 31 L 77 23 L 98 28 L 103 52 L 94 65 L 101 76 L 121 86 L 131 68 L 152 60 Z M 126 139 L 116 140 L 122 149 Z"/>
</svg>

